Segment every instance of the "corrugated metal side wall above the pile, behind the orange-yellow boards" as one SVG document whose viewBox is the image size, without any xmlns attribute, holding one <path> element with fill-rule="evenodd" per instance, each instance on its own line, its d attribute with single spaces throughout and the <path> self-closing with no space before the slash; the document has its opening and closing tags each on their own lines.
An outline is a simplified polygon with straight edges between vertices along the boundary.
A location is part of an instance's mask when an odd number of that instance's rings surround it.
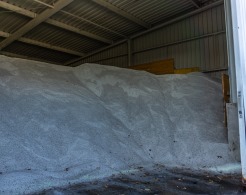
<svg viewBox="0 0 246 195">
<path fill-rule="evenodd" d="M 83 62 L 126 67 L 127 43 Z M 202 71 L 227 69 L 224 6 L 220 5 L 132 40 L 132 64 L 174 58 L 176 68 L 198 66 Z M 83 63 L 82 62 L 82 63 Z"/>
</svg>

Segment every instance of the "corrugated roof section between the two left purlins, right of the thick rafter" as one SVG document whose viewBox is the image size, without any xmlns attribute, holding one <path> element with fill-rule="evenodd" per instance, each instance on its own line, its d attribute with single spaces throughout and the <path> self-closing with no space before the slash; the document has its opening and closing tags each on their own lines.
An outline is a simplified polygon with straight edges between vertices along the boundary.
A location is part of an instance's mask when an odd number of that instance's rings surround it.
<svg viewBox="0 0 246 195">
<path fill-rule="evenodd" d="M 106 44 L 49 24 L 41 24 L 24 35 L 26 38 L 64 47 L 78 52 L 90 52 Z"/>
</svg>

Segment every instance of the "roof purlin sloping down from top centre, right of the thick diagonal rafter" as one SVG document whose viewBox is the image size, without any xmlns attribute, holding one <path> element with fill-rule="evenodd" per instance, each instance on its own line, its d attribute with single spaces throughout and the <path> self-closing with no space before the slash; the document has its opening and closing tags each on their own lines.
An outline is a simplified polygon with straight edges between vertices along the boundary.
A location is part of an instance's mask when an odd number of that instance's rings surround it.
<svg viewBox="0 0 246 195">
<path fill-rule="evenodd" d="M 145 22 L 145 21 L 143 21 L 143 20 L 141 20 L 141 19 L 129 14 L 128 12 L 126 12 L 126 11 L 124 11 L 124 10 L 114 6 L 114 5 L 112 5 L 111 3 L 108 3 L 108 2 L 106 2 L 104 0 L 92 0 L 92 1 L 95 2 L 96 4 L 100 5 L 100 6 L 106 8 L 106 9 L 109 9 L 110 11 L 112 11 L 112 12 L 114 12 L 114 13 L 116 13 L 116 14 L 118 14 L 118 15 L 120 15 L 120 16 L 122 16 L 122 17 L 124 17 L 124 18 L 126 18 L 126 19 L 128 19 L 128 20 L 130 20 L 130 21 L 132 21 L 132 22 L 134 22 L 136 24 L 138 24 L 138 25 L 140 25 L 140 26 L 143 26 L 143 27 L 145 27 L 147 29 L 151 28 L 151 25 L 149 25 L 147 22 Z"/>
</svg>

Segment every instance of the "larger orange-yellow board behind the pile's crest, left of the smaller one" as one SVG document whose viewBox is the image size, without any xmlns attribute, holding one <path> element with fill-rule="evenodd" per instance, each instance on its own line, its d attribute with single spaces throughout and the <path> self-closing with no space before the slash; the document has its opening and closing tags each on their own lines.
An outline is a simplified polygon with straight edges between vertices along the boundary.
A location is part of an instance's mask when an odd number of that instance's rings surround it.
<svg viewBox="0 0 246 195">
<path fill-rule="evenodd" d="M 168 59 L 168 60 L 155 61 L 151 63 L 130 66 L 128 68 L 134 70 L 144 70 L 156 75 L 173 74 L 174 60 Z"/>
</svg>

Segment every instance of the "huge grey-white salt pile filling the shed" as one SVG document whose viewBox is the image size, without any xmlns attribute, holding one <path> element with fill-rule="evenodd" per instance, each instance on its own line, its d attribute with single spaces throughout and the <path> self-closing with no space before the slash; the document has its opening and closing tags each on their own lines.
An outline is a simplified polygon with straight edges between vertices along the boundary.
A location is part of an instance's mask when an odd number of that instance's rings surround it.
<svg viewBox="0 0 246 195">
<path fill-rule="evenodd" d="M 230 163 L 220 84 L 0 56 L 0 193 L 30 193 L 161 163 Z M 219 156 L 219 158 L 218 158 Z"/>
</svg>

